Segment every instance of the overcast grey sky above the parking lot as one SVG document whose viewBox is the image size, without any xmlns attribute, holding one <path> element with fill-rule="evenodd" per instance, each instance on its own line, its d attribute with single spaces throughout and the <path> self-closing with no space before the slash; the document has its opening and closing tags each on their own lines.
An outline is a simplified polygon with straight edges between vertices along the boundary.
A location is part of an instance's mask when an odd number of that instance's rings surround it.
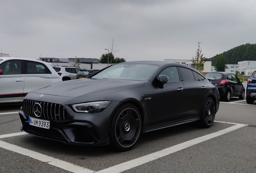
<svg viewBox="0 0 256 173">
<path fill-rule="evenodd" d="M 256 0 L 0 0 L 0 48 L 38 59 L 211 58 L 256 43 Z"/>
</svg>

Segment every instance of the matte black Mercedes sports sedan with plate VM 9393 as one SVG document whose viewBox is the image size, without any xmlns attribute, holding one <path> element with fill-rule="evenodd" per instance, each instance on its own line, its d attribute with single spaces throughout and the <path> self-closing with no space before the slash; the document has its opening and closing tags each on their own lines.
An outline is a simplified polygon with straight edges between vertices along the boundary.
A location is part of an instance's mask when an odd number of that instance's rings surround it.
<svg viewBox="0 0 256 173">
<path fill-rule="evenodd" d="M 21 130 L 29 134 L 127 151 L 145 132 L 192 121 L 211 127 L 218 109 L 217 88 L 196 70 L 137 61 L 35 89 L 19 115 Z"/>
</svg>

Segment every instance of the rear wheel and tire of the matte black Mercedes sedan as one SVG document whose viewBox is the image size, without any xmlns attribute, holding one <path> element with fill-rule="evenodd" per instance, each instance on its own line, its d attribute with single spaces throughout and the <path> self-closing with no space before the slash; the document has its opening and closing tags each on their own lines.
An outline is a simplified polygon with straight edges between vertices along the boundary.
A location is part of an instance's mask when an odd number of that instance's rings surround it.
<svg viewBox="0 0 256 173">
<path fill-rule="evenodd" d="M 198 125 L 204 128 L 209 128 L 213 125 L 215 119 L 215 103 L 211 97 L 207 98 L 204 107 L 202 108 Z"/>
</svg>

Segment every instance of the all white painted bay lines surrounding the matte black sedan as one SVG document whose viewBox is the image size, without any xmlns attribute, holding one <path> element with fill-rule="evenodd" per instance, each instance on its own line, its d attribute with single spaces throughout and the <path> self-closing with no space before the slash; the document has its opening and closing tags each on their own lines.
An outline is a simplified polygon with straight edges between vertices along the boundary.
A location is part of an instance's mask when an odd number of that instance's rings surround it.
<svg viewBox="0 0 256 173">
<path fill-rule="evenodd" d="M 209 139 L 213 139 L 215 137 L 224 135 L 224 134 L 229 133 L 231 131 L 234 131 L 234 130 L 237 130 L 239 128 L 247 126 L 247 125 L 244 125 L 244 124 L 228 123 L 228 122 L 222 122 L 222 121 L 215 121 L 215 122 L 233 124 L 234 126 L 229 127 L 227 129 L 223 129 L 221 131 L 217 131 L 215 133 L 211 133 L 209 135 L 205 135 L 205 136 L 202 136 L 202 137 L 198 137 L 196 139 L 192 139 L 190 141 L 186 141 L 184 143 L 180 143 L 178 145 L 169 147 L 167 149 L 163 149 L 161 151 L 157 151 L 155 153 L 151 153 L 149 155 L 139 157 L 139 158 L 131 160 L 131 161 L 121 163 L 119 165 L 115 165 L 113 167 L 109 167 L 107 169 L 103 169 L 103 170 L 98 171 L 96 173 L 120 173 L 122 171 L 132 169 L 132 168 L 137 167 L 139 165 L 143 165 L 145 163 L 148 163 L 150 161 L 153 161 L 153 160 L 159 159 L 161 157 L 170 155 L 170 154 L 175 153 L 177 151 L 180 151 L 182 149 L 186 149 L 186 148 L 191 147 L 193 145 L 196 145 L 198 143 L 202 143 L 202 142 L 207 141 Z M 17 136 L 17 135 L 24 135 L 24 133 L 23 132 L 13 133 L 13 134 L 9 134 L 9 135 L 1 135 L 0 137 L 4 138 L 4 137 Z M 12 144 L 6 143 L 4 141 L 0 141 L 0 147 L 2 147 L 4 149 L 7 149 L 7 150 L 10 150 L 10 151 L 13 151 L 13 152 L 16 152 L 16 153 L 20 153 L 22 155 L 32 157 L 33 159 L 43 161 L 45 163 L 48 163 L 50 165 L 54 165 L 56 167 L 65 169 L 65 170 L 73 172 L 73 173 L 82 173 L 82 172 L 83 173 L 95 173 L 95 171 L 93 171 L 93 170 L 90 170 L 90 169 L 87 169 L 87 168 L 84 168 L 84 167 L 80 167 L 80 166 L 74 165 L 72 163 L 68 163 L 68 162 L 59 160 L 59 159 L 55 159 L 53 157 L 43 155 L 43 154 L 37 153 L 35 151 L 24 149 L 22 147 L 12 145 Z"/>
</svg>

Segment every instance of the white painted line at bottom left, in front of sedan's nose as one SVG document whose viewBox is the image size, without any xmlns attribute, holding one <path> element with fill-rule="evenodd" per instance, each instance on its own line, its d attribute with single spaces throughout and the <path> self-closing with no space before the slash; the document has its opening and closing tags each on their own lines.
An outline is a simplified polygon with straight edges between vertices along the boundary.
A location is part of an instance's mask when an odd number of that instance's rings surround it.
<svg viewBox="0 0 256 173">
<path fill-rule="evenodd" d="M 16 153 L 19 153 L 19 154 L 22 154 L 22 155 L 25 155 L 25 156 L 29 156 L 33 159 L 37 159 L 39 161 L 48 163 L 50 165 L 65 169 L 65 170 L 73 172 L 73 173 L 94 173 L 95 172 L 95 171 L 86 169 L 84 167 L 80 167 L 80 166 L 74 165 L 72 163 L 68 163 L 66 161 L 56 159 L 54 157 L 43 155 L 43 154 L 37 153 L 35 151 L 31 151 L 28 149 L 24 149 L 22 147 L 18 147 L 16 145 L 12 145 L 10 143 L 6 143 L 4 141 L 0 141 L 0 147 L 10 150 L 10 151 L 13 151 L 13 152 L 16 152 Z"/>
</svg>

